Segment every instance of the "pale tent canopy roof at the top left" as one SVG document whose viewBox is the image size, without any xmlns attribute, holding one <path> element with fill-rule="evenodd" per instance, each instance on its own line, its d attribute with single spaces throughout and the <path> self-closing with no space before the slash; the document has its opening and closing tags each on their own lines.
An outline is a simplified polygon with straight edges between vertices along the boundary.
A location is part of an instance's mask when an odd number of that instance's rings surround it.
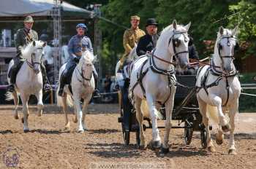
<svg viewBox="0 0 256 169">
<path fill-rule="evenodd" d="M 1 0 L 0 17 L 17 17 L 25 15 L 50 16 L 54 7 L 53 0 Z M 93 12 L 62 2 L 63 15 L 93 17 Z"/>
</svg>

